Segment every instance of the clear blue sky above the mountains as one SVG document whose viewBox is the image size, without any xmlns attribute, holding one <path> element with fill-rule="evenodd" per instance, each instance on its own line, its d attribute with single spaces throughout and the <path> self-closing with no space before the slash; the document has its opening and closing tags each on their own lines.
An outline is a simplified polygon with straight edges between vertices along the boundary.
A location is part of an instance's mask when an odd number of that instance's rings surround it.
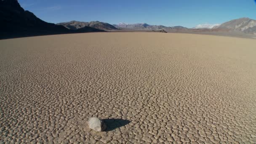
<svg viewBox="0 0 256 144">
<path fill-rule="evenodd" d="M 195 27 L 241 17 L 256 19 L 256 0 L 18 0 L 40 19 Z"/>
</svg>

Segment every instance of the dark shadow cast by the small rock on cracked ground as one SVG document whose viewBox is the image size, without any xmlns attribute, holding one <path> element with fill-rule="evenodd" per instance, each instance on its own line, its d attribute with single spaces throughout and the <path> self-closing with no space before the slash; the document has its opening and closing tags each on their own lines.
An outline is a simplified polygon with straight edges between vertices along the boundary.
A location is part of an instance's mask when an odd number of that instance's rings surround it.
<svg viewBox="0 0 256 144">
<path fill-rule="evenodd" d="M 103 119 L 103 120 L 104 120 L 104 123 L 107 125 L 107 129 L 105 131 L 112 131 L 112 130 L 115 130 L 116 128 L 120 128 L 122 126 L 125 126 L 131 123 L 130 120 L 115 119 L 115 118 Z"/>
</svg>

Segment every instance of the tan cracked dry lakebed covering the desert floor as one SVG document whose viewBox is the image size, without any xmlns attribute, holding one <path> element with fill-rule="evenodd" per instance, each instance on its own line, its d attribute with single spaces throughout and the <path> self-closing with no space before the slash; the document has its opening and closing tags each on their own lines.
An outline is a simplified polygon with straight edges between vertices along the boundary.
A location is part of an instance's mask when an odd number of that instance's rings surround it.
<svg viewBox="0 0 256 144">
<path fill-rule="evenodd" d="M 256 40 L 106 32 L 0 40 L 0 143 L 256 143 Z M 88 127 L 90 117 L 107 125 Z"/>
</svg>

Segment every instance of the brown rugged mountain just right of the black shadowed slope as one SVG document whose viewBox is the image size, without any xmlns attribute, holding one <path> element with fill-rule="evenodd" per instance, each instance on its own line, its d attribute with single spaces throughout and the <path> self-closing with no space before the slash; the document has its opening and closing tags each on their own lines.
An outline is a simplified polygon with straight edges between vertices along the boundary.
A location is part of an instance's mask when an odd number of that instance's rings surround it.
<svg viewBox="0 0 256 144">
<path fill-rule="evenodd" d="M 100 22 L 100 21 L 91 21 L 91 22 L 82 22 L 82 21 L 69 21 L 69 22 L 62 22 L 57 25 L 62 25 L 71 30 L 77 30 L 83 27 L 93 27 L 96 29 L 101 29 L 104 31 L 111 31 L 117 29 L 116 27 L 112 26 L 111 24 Z"/>
</svg>

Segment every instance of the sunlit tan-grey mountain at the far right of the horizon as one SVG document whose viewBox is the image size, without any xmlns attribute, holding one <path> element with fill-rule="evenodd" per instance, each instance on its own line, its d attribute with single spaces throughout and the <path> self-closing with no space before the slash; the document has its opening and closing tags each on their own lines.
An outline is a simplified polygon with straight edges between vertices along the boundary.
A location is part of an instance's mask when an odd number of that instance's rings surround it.
<svg viewBox="0 0 256 144">
<path fill-rule="evenodd" d="M 231 31 L 242 31 L 247 33 L 256 32 L 256 20 L 249 18 L 234 19 L 221 24 L 218 29 L 228 29 Z"/>
</svg>

